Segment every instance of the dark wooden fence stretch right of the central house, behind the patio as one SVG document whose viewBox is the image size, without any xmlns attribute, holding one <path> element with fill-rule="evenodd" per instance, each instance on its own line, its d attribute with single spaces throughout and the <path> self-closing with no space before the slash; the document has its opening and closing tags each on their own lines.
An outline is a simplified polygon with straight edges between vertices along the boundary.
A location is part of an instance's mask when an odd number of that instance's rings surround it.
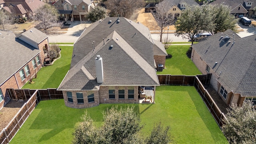
<svg viewBox="0 0 256 144">
<path fill-rule="evenodd" d="M 161 85 L 194 86 L 196 76 L 203 84 L 209 84 L 211 74 L 186 76 L 186 75 L 157 75 Z"/>
</svg>

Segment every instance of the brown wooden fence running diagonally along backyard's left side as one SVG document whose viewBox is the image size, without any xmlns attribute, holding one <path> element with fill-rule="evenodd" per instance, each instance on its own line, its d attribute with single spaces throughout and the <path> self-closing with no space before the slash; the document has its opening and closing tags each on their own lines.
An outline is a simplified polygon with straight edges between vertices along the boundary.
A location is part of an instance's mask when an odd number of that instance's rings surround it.
<svg viewBox="0 0 256 144">
<path fill-rule="evenodd" d="M 28 101 L 20 108 L 14 118 L 12 118 L 10 123 L 0 132 L 0 144 L 8 144 L 16 132 L 18 132 L 22 124 L 39 103 L 37 94 L 38 90 L 35 90 Z"/>
</svg>

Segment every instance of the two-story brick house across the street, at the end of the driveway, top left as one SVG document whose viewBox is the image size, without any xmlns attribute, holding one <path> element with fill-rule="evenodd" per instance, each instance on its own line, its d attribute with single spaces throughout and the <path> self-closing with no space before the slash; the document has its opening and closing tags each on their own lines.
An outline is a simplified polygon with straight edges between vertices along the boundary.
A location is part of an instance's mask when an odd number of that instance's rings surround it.
<svg viewBox="0 0 256 144">
<path fill-rule="evenodd" d="M 95 7 L 92 0 L 58 0 L 53 5 L 59 10 L 60 19 L 65 21 L 86 21 L 86 14 Z"/>
</svg>

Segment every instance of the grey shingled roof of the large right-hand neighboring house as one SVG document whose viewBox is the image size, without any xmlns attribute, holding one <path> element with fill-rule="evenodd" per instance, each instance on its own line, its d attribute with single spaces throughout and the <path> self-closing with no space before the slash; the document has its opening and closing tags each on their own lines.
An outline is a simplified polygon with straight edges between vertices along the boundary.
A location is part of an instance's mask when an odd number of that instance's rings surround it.
<svg viewBox="0 0 256 144">
<path fill-rule="evenodd" d="M 233 38 L 227 36 L 220 34 L 193 44 L 192 48 L 219 76 L 217 80 L 228 92 L 256 96 L 256 35 L 234 39 L 234 44 Z"/>
</svg>

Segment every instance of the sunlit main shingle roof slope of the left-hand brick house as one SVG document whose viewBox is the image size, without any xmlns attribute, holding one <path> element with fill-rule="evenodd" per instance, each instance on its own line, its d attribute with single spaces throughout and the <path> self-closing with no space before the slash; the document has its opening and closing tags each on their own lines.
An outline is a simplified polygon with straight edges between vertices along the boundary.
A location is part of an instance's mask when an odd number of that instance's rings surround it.
<svg viewBox="0 0 256 144">
<path fill-rule="evenodd" d="M 12 32 L 0 31 L 0 85 L 40 53 L 40 50 L 16 38 Z M 37 37 L 39 33 L 35 33 Z M 44 34 L 41 32 L 41 34 Z"/>
</svg>

